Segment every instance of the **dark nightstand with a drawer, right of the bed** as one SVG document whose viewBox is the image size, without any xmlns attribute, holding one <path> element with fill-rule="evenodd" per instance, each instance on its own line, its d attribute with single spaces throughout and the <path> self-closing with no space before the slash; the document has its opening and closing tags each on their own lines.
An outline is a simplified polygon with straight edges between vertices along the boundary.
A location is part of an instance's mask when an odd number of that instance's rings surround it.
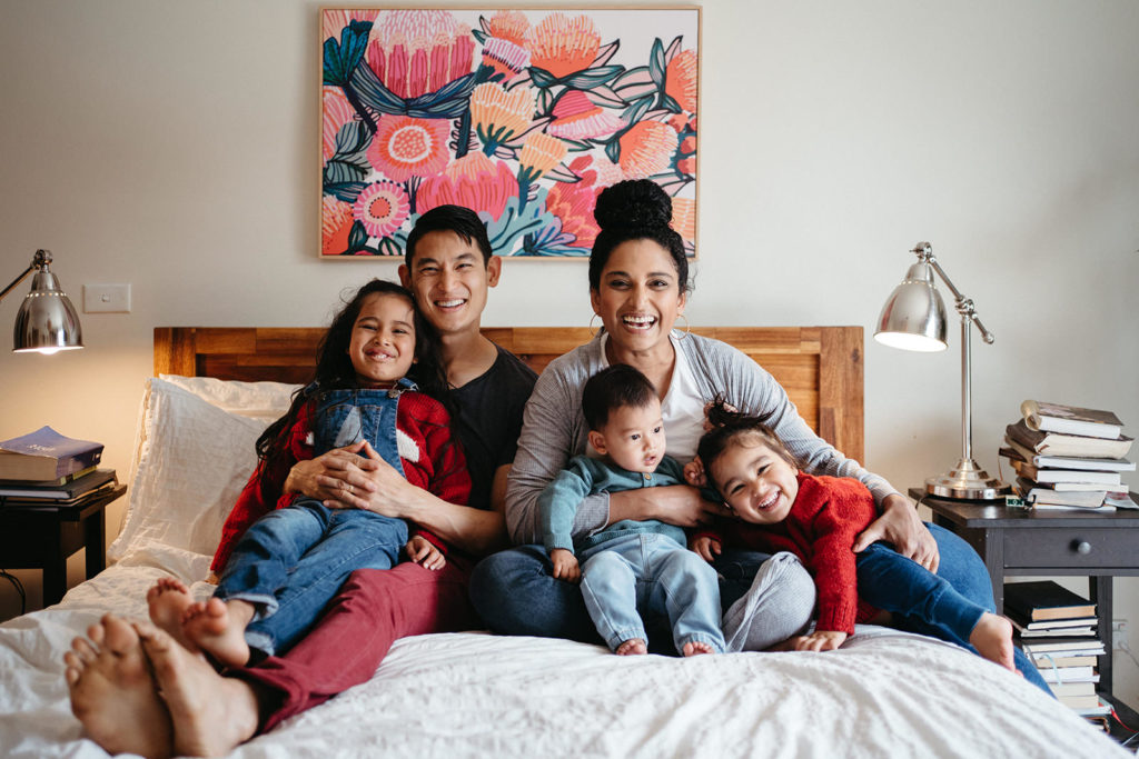
<svg viewBox="0 0 1139 759">
<path fill-rule="evenodd" d="M 1005 608 L 1006 577 L 1088 578 L 1104 638 L 1099 692 L 1130 727 L 1139 726 L 1139 715 L 1112 695 L 1112 578 L 1139 576 L 1139 511 L 1036 511 L 1006 506 L 1002 501 L 937 498 L 923 488 L 910 488 L 909 495 L 933 512 L 935 525 L 961 536 L 981 554 L 998 609 Z"/>
</svg>

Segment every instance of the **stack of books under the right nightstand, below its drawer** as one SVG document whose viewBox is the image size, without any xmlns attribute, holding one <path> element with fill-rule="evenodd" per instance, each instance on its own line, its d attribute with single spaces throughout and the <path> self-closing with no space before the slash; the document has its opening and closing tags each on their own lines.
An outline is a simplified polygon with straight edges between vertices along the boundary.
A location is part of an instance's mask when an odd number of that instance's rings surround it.
<svg viewBox="0 0 1139 759">
<path fill-rule="evenodd" d="M 1111 707 L 1096 694 L 1098 657 L 1105 653 L 1096 604 L 1052 580 L 1009 583 L 1005 614 L 1060 703 L 1106 728 Z"/>
</svg>

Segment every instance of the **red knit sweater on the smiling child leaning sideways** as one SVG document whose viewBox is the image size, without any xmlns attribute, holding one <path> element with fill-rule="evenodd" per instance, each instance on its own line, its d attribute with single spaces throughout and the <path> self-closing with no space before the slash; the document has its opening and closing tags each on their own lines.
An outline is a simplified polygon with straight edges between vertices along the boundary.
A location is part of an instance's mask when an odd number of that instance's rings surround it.
<svg viewBox="0 0 1139 759">
<path fill-rule="evenodd" d="M 724 530 L 730 545 L 776 553 L 790 551 L 814 577 L 818 591 L 817 630 L 852 634 L 876 609 L 859 601 L 854 538 L 877 515 L 874 496 L 847 477 L 798 472 L 798 496 L 787 518 L 777 525 L 732 521 Z M 718 535 L 705 533 L 711 537 Z M 721 541 L 723 542 L 723 541 Z"/>
</svg>

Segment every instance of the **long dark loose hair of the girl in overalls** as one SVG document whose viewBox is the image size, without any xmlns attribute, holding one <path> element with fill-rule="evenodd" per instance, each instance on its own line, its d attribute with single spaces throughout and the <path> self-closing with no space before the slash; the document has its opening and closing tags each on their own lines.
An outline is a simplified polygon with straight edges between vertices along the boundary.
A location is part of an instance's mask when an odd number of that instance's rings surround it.
<svg viewBox="0 0 1139 759">
<path fill-rule="evenodd" d="M 439 331 L 416 308 L 415 298 L 409 290 L 395 282 L 374 279 L 357 290 L 333 317 L 333 323 L 317 348 L 317 368 L 312 380 L 293 394 L 293 403 L 285 415 L 270 424 L 257 438 L 257 459 L 263 464 L 263 471 L 273 471 L 274 465 L 285 459 L 289 431 L 296 424 L 297 415 L 306 403 L 310 401 L 319 403 L 321 396 L 331 390 L 359 387 L 349 347 L 352 344 L 352 328 L 360 316 L 363 302 L 372 295 L 396 296 L 407 299 L 411 305 L 416 328 L 416 362 L 411 364 L 408 379 L 416 382 L 421 393 L 443 404 L 453 426 L 458 414 L 446 381 L 446 371 L 440 358 Z M 267 479 L 262 478 L 262 487 L 267 485 Z"/>
</svg>

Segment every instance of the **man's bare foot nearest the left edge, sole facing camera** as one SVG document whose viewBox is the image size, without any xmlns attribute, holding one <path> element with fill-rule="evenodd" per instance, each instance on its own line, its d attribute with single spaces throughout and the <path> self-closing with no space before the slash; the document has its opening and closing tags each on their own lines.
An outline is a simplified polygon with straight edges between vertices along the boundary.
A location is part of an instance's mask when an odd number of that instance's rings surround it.
<svg viewBox="0 0 1139 759">
<path fill-rule="evenodd" d="M 107 614 L 64 654 L 72 713 L 110 753 L 169 757 L 173 729 L 134 629 Z"/>
</svg>

